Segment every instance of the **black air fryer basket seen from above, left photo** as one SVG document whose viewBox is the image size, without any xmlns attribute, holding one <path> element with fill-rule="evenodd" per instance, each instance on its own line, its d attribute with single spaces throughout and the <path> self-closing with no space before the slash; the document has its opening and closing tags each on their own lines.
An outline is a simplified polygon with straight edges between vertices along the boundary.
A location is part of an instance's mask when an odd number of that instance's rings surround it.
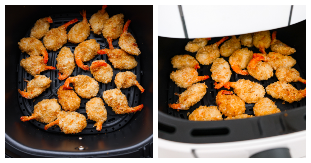
<svg viewBox="0 0 311 163">
<path fill-rule="evenodd" d="M 102 130 L 93 127 L 95 121 L 87 120 L 87 126 L 78 134 L 64 134 L 57 126 L 44 130 L 46 123 L 36 120 L 22 122 L 21 116 L 29 116 L 34 106 L 43 99 L 57 99 L 57 90 L 64 84 L 58 77 L 58 70 L 41 72 L 52 80 L 51 86 L 34 99 L 21 97 L 17 89 L 23 90 L 27 83 L 23 78 L 31 80 L 34 77 L 28 74 L 20 65 L 20 60 L 28 57 L 21 53 L 17 42 L 23 37 L 29 37 L 30 29 L 36 20 L 51 16 L 53 23 L 50 29 L 63 25 L 77 18 L 82 21 L 79 11 L 86 10 L 87 19 L 101 9 L 101 6 L 6 6 L 6 156 L 7 157 L 152 157 L 152 6 L 108 6 L 106 11 L 109 17 L 123 13 L 124 23 L 132 22 L 128 31 L 136 38 L 142 52 L 134 56 L 138 65 L 128 70 L 137 75 L 138 82 L 145 89 L 141 93 L 136 86 L 121 89 L 128 99 L 130 107 L 144 104 L 142 111 L 130 114 L 116 115 L 112 108 L 105 103 L 107 120 Z M 15 11 L 12 13 L 12 11 Z M 144 14 L 141 14 L 144 13 Z M 73 25 L 68 26 L 67 31 Z M 92 31 L 88 39 L 95 39 L 100 49 L 109 48 L 107 40 L 102 35 L 95 35 Z M 43 38 L 40 39 L 43 42 Z M 67 42 L 72 53 L 78 44 Z M 113 41 L 114 48 L 118 46 L 118 39 Z M 47 50 L 49 61 L 47 65 L 56 67 L 56 57 L 60 51 Z M 112 65 L 107 55 L 96 55 L 84 64 L 91 65 L 95 60 L 105 60 Z M 111 66 L 113 68 L 113 66 Z M 115 75 L 127 70 L 114 69 L 112 82 L 100 84 L 96 97 L 102 98 L 105 90 L 114 89 Z M 71 76 L 84 74 L 91 76 L 90 71 L 75 67 Z M 76 112 L 87 117 L 85 104 L 89 99 L 81 98 L 80 108 Z M 82 138 L 82 139 L 81 139 Z M 81 147 L 82 146 L 82 147 Z M 81 150 L 83 149 L 83 150 Z"/>
</svg>

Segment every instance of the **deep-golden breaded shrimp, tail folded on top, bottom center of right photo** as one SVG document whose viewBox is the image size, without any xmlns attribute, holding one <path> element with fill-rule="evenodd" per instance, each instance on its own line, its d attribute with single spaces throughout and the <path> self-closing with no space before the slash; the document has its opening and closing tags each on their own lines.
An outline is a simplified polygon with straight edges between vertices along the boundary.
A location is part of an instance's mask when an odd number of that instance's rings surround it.
<svg viewBox="0 0 311 163">
<path fill-rule="evenodd" d="M 225 116 L 237 116 L 245 113 L 245 103 L 233 92 L 221 90 L 216 96 L 216 104 L 218 109 Z"/>
</svg>

